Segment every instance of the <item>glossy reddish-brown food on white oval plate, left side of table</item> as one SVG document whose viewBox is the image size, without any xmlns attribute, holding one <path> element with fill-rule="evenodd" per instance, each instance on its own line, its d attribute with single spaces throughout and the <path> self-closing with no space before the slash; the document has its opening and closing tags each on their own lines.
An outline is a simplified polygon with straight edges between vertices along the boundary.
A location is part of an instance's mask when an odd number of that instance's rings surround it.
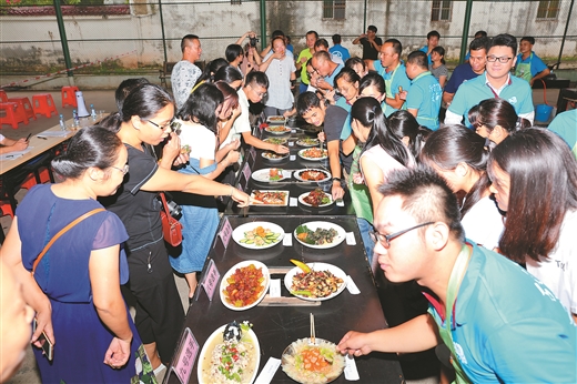
<svg viewBox="0 0 577 384">
<path fill-rule="evenodd" d="M 226 279 L 226 287 L 223 293 L 226 301 L 237 307 L 254 303 L 264 291 L 265 277 L 263 271 L 254 264 L 239 267 Z"/>
</svg>

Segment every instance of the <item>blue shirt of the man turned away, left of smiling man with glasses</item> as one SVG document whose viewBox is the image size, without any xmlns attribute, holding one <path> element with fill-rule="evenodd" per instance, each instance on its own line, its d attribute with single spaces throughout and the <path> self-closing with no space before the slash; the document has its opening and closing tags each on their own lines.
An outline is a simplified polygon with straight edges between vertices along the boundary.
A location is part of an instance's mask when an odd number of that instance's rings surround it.
<svg viewBox="0 0 577 384">
<path fill-rule="evenodd" d="M 407 110 L 417 111 L 417 122 L 433 131 L 438 130 L 438 110 L 443 99 L 443 89 L 437 79 L 426 71 L 417 75 L 408 89 Z"/>
</svg>

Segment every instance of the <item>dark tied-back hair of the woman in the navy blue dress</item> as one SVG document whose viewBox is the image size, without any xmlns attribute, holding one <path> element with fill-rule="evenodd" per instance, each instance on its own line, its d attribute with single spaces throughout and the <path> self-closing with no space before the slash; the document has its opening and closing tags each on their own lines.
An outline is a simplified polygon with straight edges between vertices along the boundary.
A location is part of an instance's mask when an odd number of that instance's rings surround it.
<svg viewBox="0 0 577 384">
<path fill-rule="evenodd" d="M 114 132 L 99 125 L 83 128 L 70 139 L 67 151 L 52 160 L 52 169 L 64 179 L 78 179 L 89 168 L 105 170 L 117 162 L 120 146 Z"/>
</svg>

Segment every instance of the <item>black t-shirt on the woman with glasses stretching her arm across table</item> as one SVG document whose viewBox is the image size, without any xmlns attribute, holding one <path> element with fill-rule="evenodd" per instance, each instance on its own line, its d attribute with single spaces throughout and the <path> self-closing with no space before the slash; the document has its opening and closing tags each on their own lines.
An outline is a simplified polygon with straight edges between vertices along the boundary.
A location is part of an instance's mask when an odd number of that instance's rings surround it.
<svg viewBox="0 0 577 384">
<path fill-rule="evenodd" d="M 161 203 L 156 199 L 159 193 L 140 190 L 154 175 L 159 165 L 146 146 L 143 146 L 144 152 L 129 144 L 124 146 L 129 152 L 130 171 L 117 194 L 103 199 L 102 203 L 122 220 L 130 236 L 126 246 L 135 250 L 162 239 Z"/>
</svg>

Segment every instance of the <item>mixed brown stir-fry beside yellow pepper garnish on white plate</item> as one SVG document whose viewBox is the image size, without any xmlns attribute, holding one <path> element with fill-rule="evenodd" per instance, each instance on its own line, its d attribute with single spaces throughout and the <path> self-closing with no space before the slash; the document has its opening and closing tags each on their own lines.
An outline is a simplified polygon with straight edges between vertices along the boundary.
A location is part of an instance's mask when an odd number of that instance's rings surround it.
<svg viewBox="0 0 577 384">
<path fill-rule="evenodd" d="M 293 276 L 291 293 L 310 299 L 327 297 L 337 292 L 344 281 L 331 271 L 298 272 Z"/>
</svg>

